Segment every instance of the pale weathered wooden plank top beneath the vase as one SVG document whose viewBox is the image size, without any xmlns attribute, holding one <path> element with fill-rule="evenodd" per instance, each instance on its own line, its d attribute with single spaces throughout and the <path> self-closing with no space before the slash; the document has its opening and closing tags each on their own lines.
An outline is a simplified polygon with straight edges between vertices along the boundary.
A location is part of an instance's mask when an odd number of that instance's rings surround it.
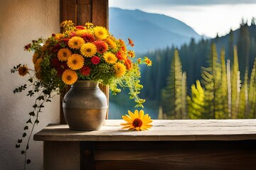
<svg viewBox="0 0 256 170">
<path fill-rule="evenodd" d="M 256 120 L 153 120 L 146 131 L 122 130 L 124 120 L 106 120 L 101 130 L 70 130 L 48 125 L 34 135 L 37 141 L 202 141 L 256 140 Z"/>
</svg>

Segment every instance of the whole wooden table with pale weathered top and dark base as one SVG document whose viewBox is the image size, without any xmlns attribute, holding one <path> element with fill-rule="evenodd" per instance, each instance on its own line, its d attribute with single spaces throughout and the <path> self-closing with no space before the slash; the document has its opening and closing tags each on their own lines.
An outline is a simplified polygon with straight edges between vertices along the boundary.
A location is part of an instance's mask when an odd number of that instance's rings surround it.
<svg viewBox="0 0 256 170">
<path fill-rule="evenodd" d="M 122 130 L 106 120 L 101 130 L 48 125 L 45 169 L 256 169 L 256 120 L 154 120 L 147 131 Z"/>
</svg>

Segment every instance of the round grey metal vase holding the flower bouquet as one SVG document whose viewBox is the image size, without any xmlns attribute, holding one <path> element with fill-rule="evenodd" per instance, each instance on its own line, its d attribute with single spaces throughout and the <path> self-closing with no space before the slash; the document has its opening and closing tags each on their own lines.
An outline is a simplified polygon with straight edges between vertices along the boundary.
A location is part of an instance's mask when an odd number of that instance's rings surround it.
<svg viewBox="0 0 256 170">
<path fill-rule="evenodd" d="M 107 107 L 107 97 L 94 81 L 77 81 L 63 98 L 63 113 L 71 130 L 99 130 Z"/>
</svg>

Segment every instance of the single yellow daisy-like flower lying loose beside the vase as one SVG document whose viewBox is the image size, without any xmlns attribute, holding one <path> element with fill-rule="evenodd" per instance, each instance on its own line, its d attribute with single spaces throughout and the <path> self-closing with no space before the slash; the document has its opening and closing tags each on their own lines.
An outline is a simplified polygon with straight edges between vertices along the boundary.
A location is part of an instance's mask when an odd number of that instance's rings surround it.
<svg viewBox="0 0 256 170">
<path fill-rule="evenodd" d="M 122 115 L 123 120 L 127 121 L 127 123 L 122 123 L 124 127 L 122 129 L 128 130 L 148 130 L 151 128 L 152 120 L 149 114 L 144 115 L 144 111 L 135 110 L 134 113 L 128 111 L 129 115 Z"/>
</svg>

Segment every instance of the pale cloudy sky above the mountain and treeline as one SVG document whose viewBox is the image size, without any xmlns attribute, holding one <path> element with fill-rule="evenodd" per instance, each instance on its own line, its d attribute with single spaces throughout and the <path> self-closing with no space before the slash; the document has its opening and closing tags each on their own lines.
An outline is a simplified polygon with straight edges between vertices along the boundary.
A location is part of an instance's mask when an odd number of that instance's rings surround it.
<svg viewBox="0 0 256 170">
<path fill-rule="evenodd" d="M 171 16 L 210 38 L 256 18 L 256 0 L 109 0 L 109 6 Z"/>
</svg>

